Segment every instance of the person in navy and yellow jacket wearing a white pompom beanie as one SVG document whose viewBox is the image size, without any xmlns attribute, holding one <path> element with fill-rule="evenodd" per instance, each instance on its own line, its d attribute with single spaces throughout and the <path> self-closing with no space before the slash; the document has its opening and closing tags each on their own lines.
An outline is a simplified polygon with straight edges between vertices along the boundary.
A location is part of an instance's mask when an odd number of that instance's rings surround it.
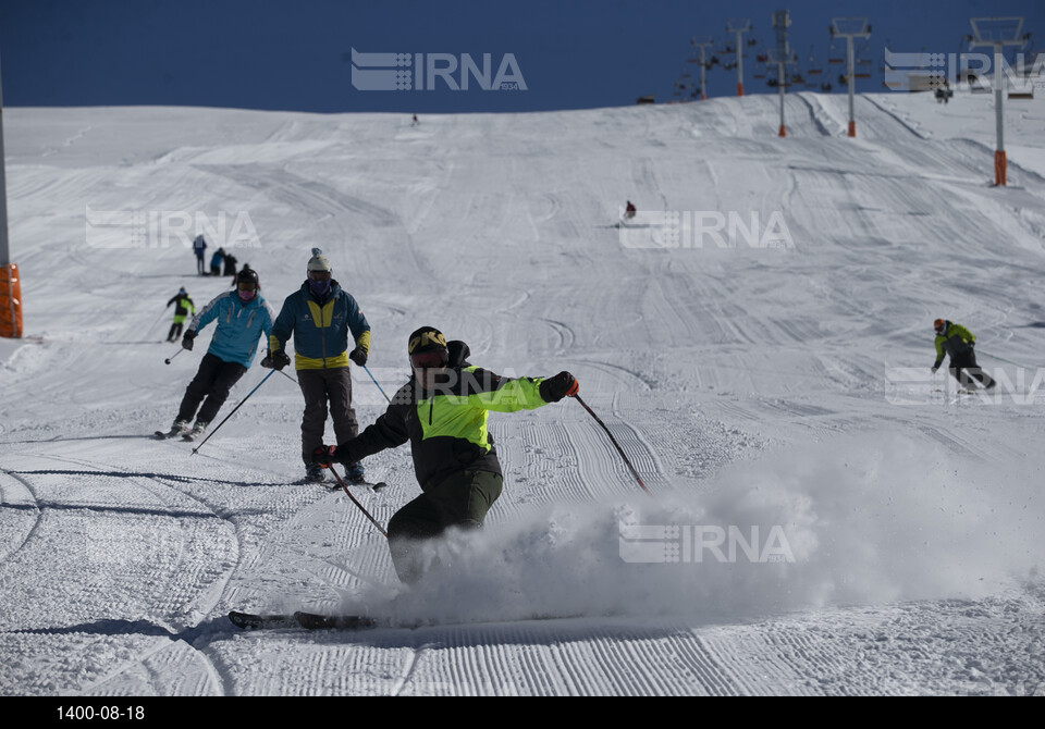
<svg viewBox="0 0 1045 729">
<path fill-rule="evenodd" d="M 269 337 L 269 355 L 261 360 L 261 367 L 282 370 L 291 363 L 285 347 L 293 333 L 297 383 L 305 396 L 302 417 L 305 479 L 322 482 L 327 475 L 312 462 L 312 453 L 323 444 L 327 416 L 333 418 L 339 442 L 354 438 L 359 432 L 359 421 L 352 407 L 348 362 L 359 367 L 367 363 L 370 324 L 352 294 L 333 280 L 330 261 L 319 248 L 312 248 L 306 274 L 308 277 L 302 287 L 283 301 Z M 361 482 L 362 466 L 349 464 L 347 475 L 351 481 Z"/>
</svg>

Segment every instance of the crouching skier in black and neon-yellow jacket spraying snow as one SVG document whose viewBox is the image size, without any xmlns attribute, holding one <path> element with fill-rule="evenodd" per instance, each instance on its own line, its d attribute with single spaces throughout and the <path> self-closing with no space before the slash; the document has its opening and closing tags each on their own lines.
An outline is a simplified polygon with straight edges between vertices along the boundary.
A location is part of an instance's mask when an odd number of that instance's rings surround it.
<svg viewBox="0 0 1045 729">
<path fill-rule="evenodd" d="M 469 364 L 464 342 L 422 326 L 410 335 L 413 375 L 384 415 L 358 437 L 316 449 L 314 461 L 352 464 L 410 442 L 421 495 L 389 521 L 389 549 L 399 580 L 423 573 L 425 542 L 445 530 L 481 527 L 501 495 L 503 475 L 487 430 L 490 410 L 515 412 L 578 392 L 569 372 L 553 378 L 502 378 Z"/>
</svg>

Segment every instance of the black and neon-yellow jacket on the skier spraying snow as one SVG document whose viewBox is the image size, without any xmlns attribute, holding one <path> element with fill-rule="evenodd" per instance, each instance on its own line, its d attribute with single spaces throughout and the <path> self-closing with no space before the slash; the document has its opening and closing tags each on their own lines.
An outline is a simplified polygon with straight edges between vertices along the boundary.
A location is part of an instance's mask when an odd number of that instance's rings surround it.
<svg viewBox="0 0 1045 729">
<path fill-rule="evenodd" d="M 464 361 L 467 347 L 437 391 L 420 387 L 415 378 L 403 385 L 384 415 L 359 436 L 337 447 L 337 459 L 353 462 L 385 448 L 410 442 L 414 473 L 421 491 L 448 475 L 467 470 L 502 474 L 501 464 L 487 428 L 491 410 L 516 412 L 546 405 L 538 387 L 544 378 L 503 378 Z M 458 349 L 460 351 L 460 349 Z"/>
</svg>

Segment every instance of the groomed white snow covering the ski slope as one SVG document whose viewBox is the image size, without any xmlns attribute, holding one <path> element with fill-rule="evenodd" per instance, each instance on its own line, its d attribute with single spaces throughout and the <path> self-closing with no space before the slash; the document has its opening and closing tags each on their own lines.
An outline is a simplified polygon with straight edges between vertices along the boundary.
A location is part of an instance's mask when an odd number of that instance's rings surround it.
<svg viewBox="0 0 1045 729">
<path fill-rule="evenodd" d="M 1009 102 L 1000 189 L 992 101 L 861 97 L 857 139 L 813 94 L 783 139 L 775 96 L 418 127 L 7 110 L 26 337 L 0 341 L 0 694 L 1045 694 L 1045 103 Z M 620 230 L 626 199 L 776 212 L 784 245 Z M 245 212 L 237 257 L 276 308 L 323 248 L 385 391 L 421 324 L 502 373 L 573 371 L 651 495 L 579 404 L 495 413 L 488 528 L 399 590 L 359 509 L 294 483 L 287 379 L 196 455 L 149 440 L 205 349 L 163 363 L 163 305 L 226 280 L 152 233 L 104 247 L 88 210 Z M 936 317 L 979 336 L 997 394 L 934 382 Z M 384 397 L 354 381 L 367 424 Z M 391 486 L 354 493 L 386 523 L 418 493 L 408 448 L 366 465 Z M 730 527 L 775 551 L 692 548 Z M 296 608 L 423 626 L 225 618 Z"/>
</svg>

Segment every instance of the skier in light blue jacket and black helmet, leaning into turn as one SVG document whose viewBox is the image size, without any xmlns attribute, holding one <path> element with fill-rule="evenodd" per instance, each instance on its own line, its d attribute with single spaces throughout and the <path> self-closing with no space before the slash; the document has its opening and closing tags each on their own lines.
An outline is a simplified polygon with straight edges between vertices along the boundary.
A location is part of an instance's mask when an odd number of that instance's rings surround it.
<svg viewBox="0 0 1045 729">
<path fill-rule="evenodd" d="M 157 435 L 186 434 L 194 417 L 196 423 L 187 436 L 198 437 L 207 430 L 229 397 L 229 391 L 250 368 L 258 350 L 258 339 L 272 331 L 272 309 L 261 296 L 257 272 L 244 267 L 236 275 L 236 291 L 216 296 L 189 323 L 182 338 L 182 346 L 186 349 L 193 348 L 197 333 L 211 321 L 218 322 L 218 329 L 199 362 L 196 376 L 185 388 L 170 432 L 158 432 Z"/>
</svg>

